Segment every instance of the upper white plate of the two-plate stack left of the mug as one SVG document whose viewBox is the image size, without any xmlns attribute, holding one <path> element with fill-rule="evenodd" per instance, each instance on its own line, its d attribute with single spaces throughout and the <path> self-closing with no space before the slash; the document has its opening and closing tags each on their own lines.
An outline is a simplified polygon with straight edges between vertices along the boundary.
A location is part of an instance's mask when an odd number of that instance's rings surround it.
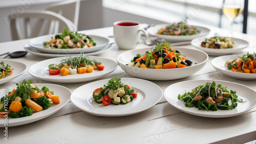
<svg viewBox="0 0 256 144">
<path fill-rule="evenodd" d="M 105 47 L 109 43 L 108 38 L 100 37 L 100 36 L 94 36 L 90 35 L 92 37 L 93 41 L 96 43 L 95 46 L 91 46 L 88 48 L 80 48 L 80 49 L 46 49 L 45 46 L 42 44 L 43 42 L 50 41 L 52 38 L 52 34 L 45 35 L 45 36 L 39 36 L 36 38 L 33 38 L 29 41 L 29 45 L 34 47 L 36 50 L 48 53 L 48 54 L 80 54 L 83 53 L 92 53 L 99 51 L 103 47 Z"/>
</svg>

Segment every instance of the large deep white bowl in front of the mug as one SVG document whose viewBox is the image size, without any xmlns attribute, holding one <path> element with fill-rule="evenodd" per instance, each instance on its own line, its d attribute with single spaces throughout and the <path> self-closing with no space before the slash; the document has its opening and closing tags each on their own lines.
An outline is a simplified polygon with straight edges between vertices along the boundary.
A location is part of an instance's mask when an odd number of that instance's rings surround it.
<svg viewBox="0 0 256 144">
<path fill-rule="evenodd" d="M 208 55 L 205 52 L 193 49 L 186 49 L 182 47 L 172 47 L 175 50 L 179 50 L 180 53 L 188 60 L 193 62 L 193 65 L 184 68 L 171 68 L 171 69 L 152 69 L 152 68 L 139 68 L 128 66 L 126 64 L 131 63 L 131 60 L 137 54 L 145 54 L 146 51 L 150 51 L 150 48 L 131 50 L 120 54 L 117 57 L 119 66 L 129 75 L 146 80 L 175 80 L 181 79 L 193 75 L 199 71 L 208 60 Z M 195 64 L 197 63 L 197 64 Z"/>
</svg>

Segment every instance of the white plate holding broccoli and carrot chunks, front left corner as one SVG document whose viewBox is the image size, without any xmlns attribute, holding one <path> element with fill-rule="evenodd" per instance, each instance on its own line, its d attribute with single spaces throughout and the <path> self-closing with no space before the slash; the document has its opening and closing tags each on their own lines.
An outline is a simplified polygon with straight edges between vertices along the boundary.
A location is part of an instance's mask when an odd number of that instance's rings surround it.
<svg viewBox="0 0 256 144">
<path fill-rule="evenodd" d="M 41 110 L 39 112 L 33 113 L 31 116 L 20 117 L 20 118 L 10 118 L 8 117 L 8 127 L 20 126 L 29 123 L 33 123 L 40 119 L 46 118 L 55 112 L 59 111 L 63 106 L 65 106 L 70 100 L 71 91 L 63 86 L 56 84 L 33 84 L 38 88 L 42 88 L 43 86 L 48 87 L 50 90 L 54 91 L 55 95 L 59 95 L 60 104 L 52 104 L 49 109 Z M 9 87 L 8 90 L 11 91 L 13 88 L 17 86 Z M 1 93 L 4 93 L 4 89 L 0 90 Z M 4 117 L 0 117 L 3 120 Z M 0 121 L 0 127 L 6 127 L 4 121 Z"/>
</svg>

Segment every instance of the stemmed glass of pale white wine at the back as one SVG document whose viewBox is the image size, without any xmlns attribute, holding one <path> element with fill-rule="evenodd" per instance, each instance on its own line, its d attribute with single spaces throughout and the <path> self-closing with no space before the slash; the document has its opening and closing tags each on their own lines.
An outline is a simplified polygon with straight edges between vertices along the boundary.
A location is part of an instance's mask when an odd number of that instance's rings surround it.
<svg viewBox="0 0 256 144">
<path fill-rule="evenodd" d="M 241 13 L 241 1 L 240 0 L 223 0 L 222 6 L 223 14 L 230 21 L 230 34 L 232 36 L 234 18 L 236 18 Z"/>
</svg>

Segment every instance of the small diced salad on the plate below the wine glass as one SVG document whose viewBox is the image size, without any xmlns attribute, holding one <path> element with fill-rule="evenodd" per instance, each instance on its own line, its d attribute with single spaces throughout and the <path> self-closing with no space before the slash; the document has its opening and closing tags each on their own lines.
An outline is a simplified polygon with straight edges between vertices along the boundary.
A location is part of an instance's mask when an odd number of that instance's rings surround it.
<svg viewBox="0 0 256 144">
<path fill-rule="evenodd" d="M 211 37 L 201 43 L 202 47 L 211 49 L 228 49 L 234 47 L 234 42 L 229 37 Z"/>
</svg>

